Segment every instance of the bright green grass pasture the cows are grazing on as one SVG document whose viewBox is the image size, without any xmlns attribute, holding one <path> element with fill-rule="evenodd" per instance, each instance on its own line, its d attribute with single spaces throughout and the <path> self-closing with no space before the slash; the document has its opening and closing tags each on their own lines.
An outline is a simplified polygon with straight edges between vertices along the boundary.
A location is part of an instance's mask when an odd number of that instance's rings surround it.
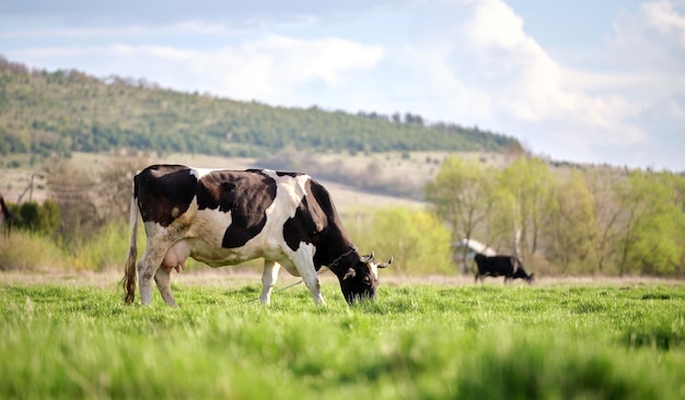
<svg viewBox="0 0 685 400">
<path fill-rule="evenodd" d="M 90 277 L 0 274 L 0 398 L 685 398 L 684 282 L 395 278 L 350 308 L 328 277 L 265 308 L 258 277 L 186 275 L 143 308 Z"/>
</svg>

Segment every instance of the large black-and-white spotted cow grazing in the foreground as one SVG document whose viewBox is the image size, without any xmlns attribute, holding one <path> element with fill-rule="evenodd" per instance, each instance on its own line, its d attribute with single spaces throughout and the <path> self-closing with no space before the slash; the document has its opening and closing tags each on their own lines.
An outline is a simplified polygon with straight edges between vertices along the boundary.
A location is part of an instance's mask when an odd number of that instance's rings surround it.
<svg viewBox="0 0 685 400">
<path fill-rule="evenodd" d="M 138 213 L 146 249 L 136 263 Z M 326 266 L 348 304 L 374 298 L 379 284 L 373 251 L 362 256 L 342 226 L 328 191 L 309 175 L 270 169 L 205 169 L 151 165 L 133 178 L 131 238 L 126 256 L 124 301 L 132 303 L 136 270 L 142 305 L 151 280 L 175 306 L 171 271 L 188 257 L 210 267 L 263 258 L 260 301 L 268 305 L 282 266 L 302 277 L 316 305 L 324 305 L 317 271 Z"/>
</svg>

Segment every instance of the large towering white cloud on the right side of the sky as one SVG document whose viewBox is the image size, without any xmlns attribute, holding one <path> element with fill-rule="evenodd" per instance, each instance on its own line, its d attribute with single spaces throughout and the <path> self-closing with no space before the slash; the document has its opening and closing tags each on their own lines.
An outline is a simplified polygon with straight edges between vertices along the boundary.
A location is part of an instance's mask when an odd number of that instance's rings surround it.
<svg viewBox="0 0 685 400">
<path fill-rule="evenodd" d="M 436 86 L 428 90 L 452 95 L 448 104 L 460 107 L 455 115 L 479 116 L 478 125 L 502 131 L 525 130 L 533 144 L 587 148 L 645 139 L 641 129 L 626 121 L 642 107 L 639 102 L 569 84 L 564 68 L 526 35 L 523 20 L 504 2 L 480 0 L 468 2 L 467 9 L 460 28 L 434 27 L 433 35 L 448 33 L 452 42 L 415 49 L 423 52 L 419 59 L 433 63 L 428 71 Z"/>
</svg>

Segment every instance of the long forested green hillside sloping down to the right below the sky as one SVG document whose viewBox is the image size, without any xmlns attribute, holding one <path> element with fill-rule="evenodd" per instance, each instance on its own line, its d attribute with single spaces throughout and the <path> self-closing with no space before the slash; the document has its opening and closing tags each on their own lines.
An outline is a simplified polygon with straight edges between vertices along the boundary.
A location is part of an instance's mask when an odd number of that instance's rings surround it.
<svg viewBox="0 0 685 400">
<path fill-rule="evenodd" d="M 271 107 L 142 80 L 31 70 L 0 57 L 0 154 L 40 156 L 121 149 L 158 154 L 265 156 L 317 152 L 520 150 L 513 138 L 400 116 Z"/>
</svg>

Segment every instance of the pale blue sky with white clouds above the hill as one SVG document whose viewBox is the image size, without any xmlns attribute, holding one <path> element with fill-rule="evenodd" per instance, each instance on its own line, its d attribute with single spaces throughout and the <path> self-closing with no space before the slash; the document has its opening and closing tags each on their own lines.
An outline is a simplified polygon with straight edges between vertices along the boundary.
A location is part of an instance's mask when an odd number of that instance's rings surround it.
<svg viewBox="0 0 685 400">
<path fill-rule="evenodd" d="M 685 170 L 685 0 L 0 0 L 0 56 Z"/>
</svg>

